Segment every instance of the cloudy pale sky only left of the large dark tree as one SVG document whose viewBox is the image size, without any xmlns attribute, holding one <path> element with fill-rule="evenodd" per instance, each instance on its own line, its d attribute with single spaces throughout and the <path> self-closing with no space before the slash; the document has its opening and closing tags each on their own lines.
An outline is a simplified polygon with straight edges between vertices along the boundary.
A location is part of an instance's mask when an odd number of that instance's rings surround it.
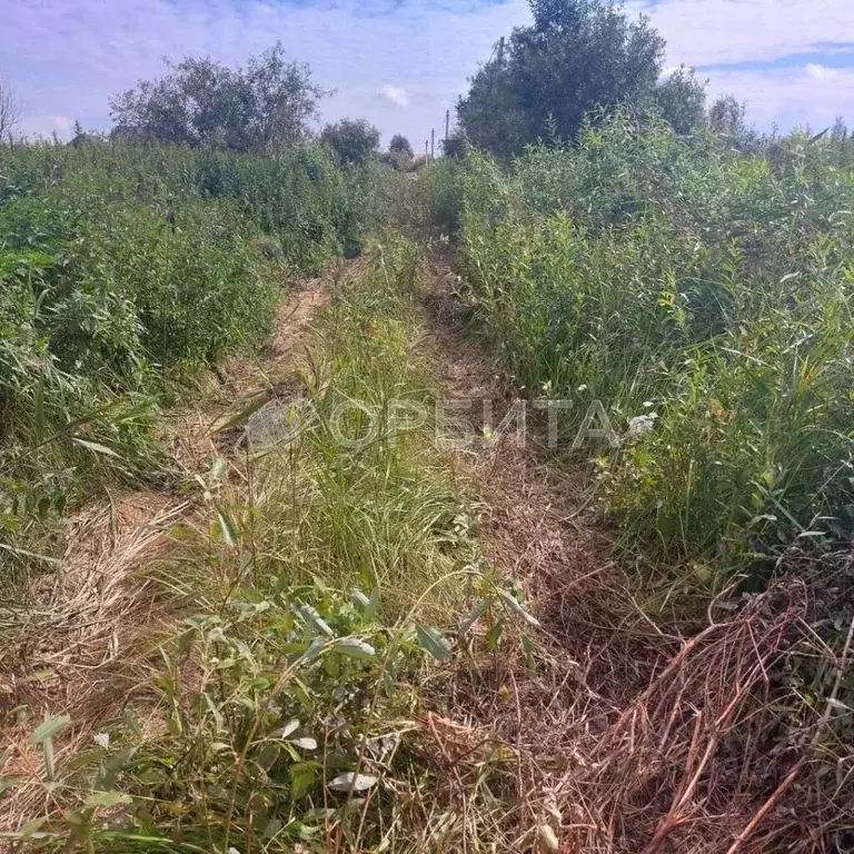
<svg viewBox="0 0 854 854">
<path fill-rule="evenodd" d="M 0 40 L 0 77 L 23 100 L 31 131 L 60 115 L 106 128 L 108 97 L 161 75 L 163 57 L 232 64 L 281 39 L 336 90 L 324 121 L 365 117 L 386 140 L 405 133 L 418 147 L 444 127 L 498 38 L 528 19 L 527 0 L 0 0 L 0 32 L 14 33 Z M 407 110 L 378 97 L 390 80 Z"/>
</svg>

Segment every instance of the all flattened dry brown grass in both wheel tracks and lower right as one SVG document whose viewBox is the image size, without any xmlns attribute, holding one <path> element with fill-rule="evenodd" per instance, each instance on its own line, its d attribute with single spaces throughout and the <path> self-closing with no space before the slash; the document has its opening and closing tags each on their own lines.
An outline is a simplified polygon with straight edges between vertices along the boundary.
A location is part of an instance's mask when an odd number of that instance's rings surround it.
<svg viewBox="0 0 854 854">
<path fill-rule="evenodd" d="M 495 399 L 500 416 L 507 389 L 460 334 L 450 272 L 434 265 L 423 280 L 423 349 L 445 390 Z M 285 309 L 268 365 L 255 374 L 232 366 L 209 410 L 182 415 L 175 447 L 188 471 L 203 471 L 234 447 L 211 425 L 235 401 L 287 390 L 324 300 L 311 290 Z M 539 626 L 508 626 L 489 653 L 481 652 L 488 625 L 478 624 L 468 656 L 425 671 L 419 687 L 429 711 L 407 724 L 417 773 L 399 781 L 396 821 L 405 826 L 388 830 L 394 851 L 851 850 L 854 749 L 835 704 L 850 679 L 852 632 L 844 648 L 830 648 L 814 628 L 848 614 L 851 603 L 823 589 L 843 587 L 831 569 L 850 574 L 847 556 L 835 567 L 802 567 L 801 580 L 772 583 L 763 594 L 727 589 L 705 613 L 653 618 L 609 559 L 607 532 L 582 485 L 553 476 L 536 436 L 525 448 L 484 437 L 454 465 L 484 508 L 486 560 L 520 580 Z M 169 547 L 168 530 L 179 519 L 192 525 L 193 513 L 189 503 L 136 494 L 79 514 L 61 572 L 37 582 L 37 604 L 16 616 L 17 639 L 0 656 L 4 707 L 69 714 L 73 726 L 57 739 L 58 755 L 79 753 L 129 701 L 146 707 L 138 675 L 177 614 L 147 578 Z M 826 687 L 814 696 L 831 702 L 805 702 L 812 688 L 792 678 L 804 661 L 811 672 L 823 668 Z M 158 719 L 149 704 L 148 725 Z M 0 802 L 0 828 L 46 812 L 31 729 L 21 723 L 2 736 L 3 773 L 33 785 Z"/>
</svg>

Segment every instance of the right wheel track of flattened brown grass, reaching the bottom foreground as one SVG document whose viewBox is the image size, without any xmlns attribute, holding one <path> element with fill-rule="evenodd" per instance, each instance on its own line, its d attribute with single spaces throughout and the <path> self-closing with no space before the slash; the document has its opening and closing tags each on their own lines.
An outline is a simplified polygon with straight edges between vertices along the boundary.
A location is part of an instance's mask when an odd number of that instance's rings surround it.
<svg viewBox="0 0 854 854">
<path fill-rule="evenodd" d="M 466 335 L 455 278 L 447 264 L 425 266 L 425 346 L 448 396 L 491 400 L 495 426 L 509 393 Z M 478 408 L 479 403 L 473 411 Z M 605 731 L 643 683 L 618 648 L 630 635 L 616 629 L 632 605 L 608 558 L 607 537 L 572 481 L 550 473 L 544 425 L 533 416 L 529 411 L 526 447 L 508 434 L 459 455 L 458 464 L 484 507 L 480 528 L 489 559 L 522 583 L 539 618 L 537 661 L 532 667 L 505 646 L 489 678 L 477 682 L 479 676 L 463 667 L 455 689 L 440 697 L 444 714 L 471 726 L 477 738 L 516 751 L 520 834 L 545 821 L 549 810 L 574 801 L 573 776 L 585 762 L 579 745 Z M 575 820 L 588 822 L 578 810 Z"/>
</svg>

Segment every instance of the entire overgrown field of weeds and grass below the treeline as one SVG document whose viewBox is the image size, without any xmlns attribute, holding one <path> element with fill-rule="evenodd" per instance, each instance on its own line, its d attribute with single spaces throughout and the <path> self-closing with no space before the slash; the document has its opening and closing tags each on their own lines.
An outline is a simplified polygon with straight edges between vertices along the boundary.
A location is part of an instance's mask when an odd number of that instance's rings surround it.
<svg viewBox="0 0 854 854">
<path fill-rule="evenodd" d="M 3 153 L 0 844 L 848 850 L 854 155 L 748 141 Z"/>
</svg>

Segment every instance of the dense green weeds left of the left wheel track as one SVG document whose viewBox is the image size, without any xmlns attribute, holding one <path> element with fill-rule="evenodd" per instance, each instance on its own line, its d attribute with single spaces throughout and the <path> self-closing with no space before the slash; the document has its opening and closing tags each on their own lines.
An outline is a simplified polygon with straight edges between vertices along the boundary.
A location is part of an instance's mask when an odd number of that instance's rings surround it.
<svg viewBox="0 0 854 854">
<path fill-rule="evenodd" d="M 375 187 L 308 145 L 0 148 L 7 567 L 54 556 L 49 523 L 98 485 L 169 477 L 150 426 L 175 380 L 257 347 L 296 275 L 358 251 Z"/>
</svg>

